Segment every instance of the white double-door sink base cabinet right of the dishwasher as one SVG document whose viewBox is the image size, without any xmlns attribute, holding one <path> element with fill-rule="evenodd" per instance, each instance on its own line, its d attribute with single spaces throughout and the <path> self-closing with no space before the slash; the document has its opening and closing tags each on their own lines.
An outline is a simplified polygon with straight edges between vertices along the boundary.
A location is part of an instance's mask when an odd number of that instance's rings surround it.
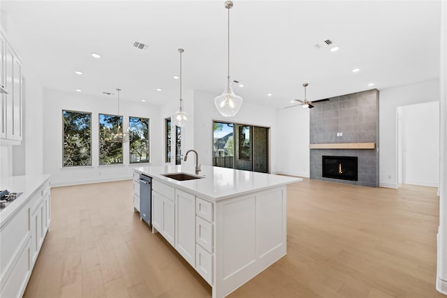
<svg viewBox="0 0 447 298">
<path fill-rule="evenodd" d="M 175 190 L 152 180 L 152 228 L 175 247 Z"/>
</svg>

